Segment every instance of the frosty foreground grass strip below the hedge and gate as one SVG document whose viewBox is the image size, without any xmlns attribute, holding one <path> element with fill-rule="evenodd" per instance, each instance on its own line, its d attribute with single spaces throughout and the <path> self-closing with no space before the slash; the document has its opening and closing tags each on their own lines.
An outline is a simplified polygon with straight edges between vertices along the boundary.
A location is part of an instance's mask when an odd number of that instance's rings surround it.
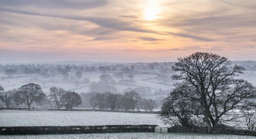
<svg viewBox="0 0 256 139">
<path fill-rule="evenodd" d="M 251 136 L 197 134 L 197 133 L 101 133 L 101 134 L 65 134 L 65 135 L 5 135 L 0 139 L 113 139 L 113 138 L 139 138 L 139 139 L 255 139 Z"/>
</svg>

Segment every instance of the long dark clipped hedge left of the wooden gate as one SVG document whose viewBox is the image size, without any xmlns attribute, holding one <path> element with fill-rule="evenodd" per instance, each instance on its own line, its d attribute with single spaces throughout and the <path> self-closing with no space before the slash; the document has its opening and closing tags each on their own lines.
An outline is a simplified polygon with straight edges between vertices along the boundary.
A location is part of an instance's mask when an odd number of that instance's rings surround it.
<svg viewBox="0 0 256 139">
<path fill-rule="evenodd" d="M 148 124 L 97 126 L 16 126 L 0 127 L 0 135 L 154 132 L 156 126 L 157 125 Z"/>
</svg>

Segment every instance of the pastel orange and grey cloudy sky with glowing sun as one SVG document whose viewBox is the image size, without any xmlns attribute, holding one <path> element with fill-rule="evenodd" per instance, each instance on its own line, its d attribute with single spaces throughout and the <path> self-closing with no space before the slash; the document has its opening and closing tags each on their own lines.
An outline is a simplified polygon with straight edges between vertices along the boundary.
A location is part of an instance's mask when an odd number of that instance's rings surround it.
<svg viewBox="0 0 256 139">
<path fill-rule="evenodd" d="M 255 0 L 0 0 L 0 63 L 256 60 Z"/>
</svg>

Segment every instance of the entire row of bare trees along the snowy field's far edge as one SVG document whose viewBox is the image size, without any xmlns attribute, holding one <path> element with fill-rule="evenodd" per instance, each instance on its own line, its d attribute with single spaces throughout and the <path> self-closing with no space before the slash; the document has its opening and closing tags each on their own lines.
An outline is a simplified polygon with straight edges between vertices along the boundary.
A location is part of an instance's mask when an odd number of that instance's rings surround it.
<svg viewBox="0 0 256 139">
<path fill-rule="evenodd" d="M 10 107 L 11 102 L 15 106 L 21 104 L 27 105 L 30 110 L 31 105 L 51 104 L 58 109 L 65 107 L 72 109 L 79 107 L 85 102 L 89 102 L 93 109 L 106 109 L 106 110 L 125 110 L 137 111 L 145 110 L 152 112 L 153 109 L 158 107 L 158 103 L 152 99 L 142 99 L 136 91 L 125 92 L 124 94 L 111 93 L 111 92 L 91 92 L 82 93 L 81 96 L 74 91 L 66 91 L 63 88 L 55 86 L 50 88 L 49 94 L 43 93 L 42 88 L 38 84 L 29 83 L 21 86 L 18 90 L 5 91 L 0 86 L 0 100 L 2 100 L 6 107 Z M 88 106 L 87 106 L 88 107 Z"/>
</svg>

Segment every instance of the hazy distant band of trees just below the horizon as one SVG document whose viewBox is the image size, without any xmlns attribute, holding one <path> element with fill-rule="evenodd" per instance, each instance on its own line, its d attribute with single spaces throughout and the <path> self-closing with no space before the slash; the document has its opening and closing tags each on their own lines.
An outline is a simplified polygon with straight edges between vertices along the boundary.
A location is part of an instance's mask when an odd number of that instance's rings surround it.
<svg viewBox="0 0 256 139">
<path fill-rule="evenodd" d="M 0 64 L 0 72 L 4 72 L 9 77 L 13 74 L 42 74 L 44 77 L 54 77 L 55 74 L 63 74 L 63 76 L 67 76 L 67 73 L 70 71 L 73 72 L 92 72 L 92 71 L 122 71 L 125 77 L 131 73 L 131 71 L 135 73 L 139 73 L 134 71 L 137 69 L 154 69 L 155 67 L 160 67 L 160 72 L 166 74 L 170 71 L 168 66 L 173 65 L 173 62 L 164 62 L 164 63 L 129 63 L 127 65 L 116 64 L 116 65 L 53 65 L 53 64 L 21 64 L 21 65 L 1 65 Z M 166 66 L 164 68 L 164 66 Z M 118 75 L 120 77 L 120 74 Z M 122 75 L 123 76 L 123 75 Z"/>
</svg>

